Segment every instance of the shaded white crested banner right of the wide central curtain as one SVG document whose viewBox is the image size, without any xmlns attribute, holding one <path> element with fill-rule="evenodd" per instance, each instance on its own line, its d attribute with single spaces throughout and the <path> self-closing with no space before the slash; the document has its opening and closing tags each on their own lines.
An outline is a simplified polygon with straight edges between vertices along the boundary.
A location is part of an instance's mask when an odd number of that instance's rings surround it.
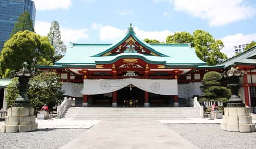
<svg viewBox="0 0 256 149">
<path fill-rule="evenodd" d="M 201 82 L 178 84 L 178 97 L 179 98 L 190 98 L 195 95 L 202 96 L 203 93 L 200 89 L 200 86 L 202 86 Z"/>
</svg>

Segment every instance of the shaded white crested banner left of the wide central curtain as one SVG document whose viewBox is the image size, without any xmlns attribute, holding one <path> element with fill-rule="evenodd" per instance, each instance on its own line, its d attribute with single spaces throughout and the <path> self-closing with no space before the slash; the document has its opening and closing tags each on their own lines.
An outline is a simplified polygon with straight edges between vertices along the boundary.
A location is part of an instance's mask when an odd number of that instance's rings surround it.
<svg viewBox="0 0 256 149">
<path fill-rule="evenodd" d="M 63 82 L 62 91 L 63 95 L 68 95 L 71 97 L 83 97 L 81 90 L 83 89 L 83 83 L 72 83 L 72 82 Z"/>
</svg>

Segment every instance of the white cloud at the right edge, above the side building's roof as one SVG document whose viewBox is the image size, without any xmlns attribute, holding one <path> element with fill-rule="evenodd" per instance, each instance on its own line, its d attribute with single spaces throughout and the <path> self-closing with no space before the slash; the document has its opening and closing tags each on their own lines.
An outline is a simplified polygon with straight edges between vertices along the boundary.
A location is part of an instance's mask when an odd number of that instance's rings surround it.
<svg viewBox="0 0 256 149">
<path fill-rule="evenodd" d="M 234 46 L 250 43 L 251 41 L 256 41 L 256 33 L 253 34 L 234 34 L 234 35 L 228 35 L 221 39 L 225 45 L 225 47 L 222 49 L 222 52 L 227 55 L 227 57 L 234 56 Z"/>
</svg>

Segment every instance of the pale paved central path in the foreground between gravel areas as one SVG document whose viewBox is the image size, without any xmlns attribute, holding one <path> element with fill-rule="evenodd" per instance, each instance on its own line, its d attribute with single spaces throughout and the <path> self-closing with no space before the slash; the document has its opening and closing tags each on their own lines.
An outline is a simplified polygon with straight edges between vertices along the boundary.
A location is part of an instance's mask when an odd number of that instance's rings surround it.
<svg viewBox="0 0 256 149">
<path fill-rule="evenodd" d="M 105 119 L 65 148 L 198 148 L 158 120 Z"/>
</svg>

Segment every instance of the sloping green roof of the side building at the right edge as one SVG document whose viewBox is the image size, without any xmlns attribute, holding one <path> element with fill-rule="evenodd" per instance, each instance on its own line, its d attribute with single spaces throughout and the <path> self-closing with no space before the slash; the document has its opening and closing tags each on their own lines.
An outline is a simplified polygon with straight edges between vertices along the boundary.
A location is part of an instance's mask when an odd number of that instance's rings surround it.
<svg viewBox="0 0 256 149">
<path fill-rule="evenodd" d="M 224 62 L 217 64 L 217 66 L 224 65 L 226 68 L 226 67 L 229 67 L 231 64 L 256 65 L 256 59 L 254 58 L 255 55 L 256 55 L 256 46 L 230 59 L 227 59 Z"/>
</svg>

